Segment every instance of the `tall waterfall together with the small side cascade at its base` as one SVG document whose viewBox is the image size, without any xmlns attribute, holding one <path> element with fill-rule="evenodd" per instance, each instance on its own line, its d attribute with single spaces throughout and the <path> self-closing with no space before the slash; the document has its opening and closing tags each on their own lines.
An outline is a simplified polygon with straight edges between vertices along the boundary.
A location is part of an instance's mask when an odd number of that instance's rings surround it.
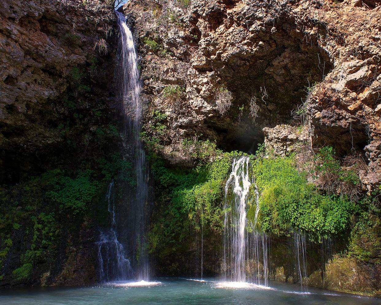
<svg viewBox="0 0 381 305">
<path fill-rule="evenodd" d="M 125 16 L 115 10 L 120 31 L 119 72 L 120 112 L 123 118 L 123 157 L 131 160 L 136 175 L 134 187 L 125 183 L 125 207 L 115 206 L 114 181 L 107 192 L 111 228 L 98 241 L 101 281 L 129 278 L 149 279 L 146 247 L 145 207 L 148 201 L 146 156 L 139 139 L 143 105 L 140 99 L 138 58 Z M 124 245 L 124 247 L 123 247 Z"/>
</svg>

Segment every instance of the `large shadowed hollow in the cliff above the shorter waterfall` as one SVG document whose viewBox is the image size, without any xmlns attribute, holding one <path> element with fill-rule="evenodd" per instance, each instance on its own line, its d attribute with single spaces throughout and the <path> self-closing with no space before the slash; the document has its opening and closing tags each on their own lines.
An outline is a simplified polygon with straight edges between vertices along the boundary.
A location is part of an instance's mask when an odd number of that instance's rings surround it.
<svg viewBox="0 0 381 305">
<path fill-rule="evenodd" d="M 271 22 L 264 27 L 264 34 L 259 33 L 262 36 L 255 40 L 263 47 L 256 52 L 238 50 L 223 63 L 211 62 L 217 86 L 223 84 L 233 96 L 226 113 L 205 121 L 216 134 L 217 146 L 225 151 L 255 153 L 258 144 L 264 143 L 264 127 L 301 125 L 293 111 L 333 69 L 317 37 L 306 39 L 292 19 L 284 16 L 275 26 Z M 324 34 L 324 29 L 320 30 Z M 253 104 L 258 108 L 255 116 Z"/>
</svg>

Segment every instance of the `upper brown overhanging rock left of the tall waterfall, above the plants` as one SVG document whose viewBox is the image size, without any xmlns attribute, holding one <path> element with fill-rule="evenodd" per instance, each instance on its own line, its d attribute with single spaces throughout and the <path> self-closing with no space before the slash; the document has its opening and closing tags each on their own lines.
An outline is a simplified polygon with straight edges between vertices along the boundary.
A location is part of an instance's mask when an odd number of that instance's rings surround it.
<svg viewBox="0 0 381 305">
<path fill-rule="evenodd" d="M 112 76 L 105 75 L 113 75 L 114 61 L 106 48 L 115 35 L 112 6 L 100 1 L 1 0 L 0 16 L 0 167 L 7 176 L 20 171 L 8 161 L 28 167 L 25 159 L 41 162 L 62 149 L 58 126 L 67 125 L 69 107 L 78 114 L 100 96 L 110 101 Z M 87 75 L 91 65 L 103 76 Z"/>
</svg>

